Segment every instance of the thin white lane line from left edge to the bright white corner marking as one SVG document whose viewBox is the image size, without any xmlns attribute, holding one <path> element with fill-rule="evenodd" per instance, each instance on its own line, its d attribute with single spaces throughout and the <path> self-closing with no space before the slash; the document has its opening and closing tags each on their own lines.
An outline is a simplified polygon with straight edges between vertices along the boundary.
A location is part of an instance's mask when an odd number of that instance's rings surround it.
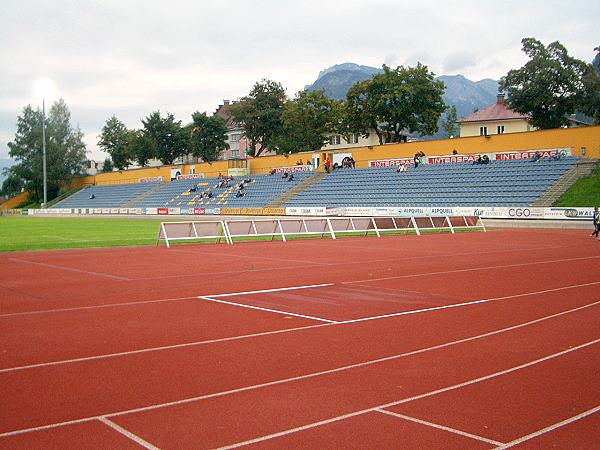
<svg viewBox="0 0 600 450">
<path fill-rule="evenodd" d="M 219 342 L 237 341 L 240 339 L 248 339 L 248 338 L 254 338 L 254 337 L 259 337 L 259 336 L 269 336 L 272 334 L 282 334 L 282 333 L 288 333 L 291 331 L 308 330 L 311 328 L 326 327 L 329 325 L 331 325 L 331 324 L 320 323 L 318 325 L 308 325 L 305 327 L 296 327 L 296 328 L 285 328 L 283 330 L 264 331 L 262 333 L 243 334 L 240 336 L 209 339 L 206 341 L 186 342 L 183 344 L 163 345 L 161 347 L 150 347 L 150 348 L 143 348 L 143 349 L 139 349 L 139 350 L 129 350 L 129 351 L 125 351 L 125 352 L 107 353 L 104 355 L 94 355 L 94 356 L 84 356 L 81 358 L 62 359 L 59 361 L 50 361 L 50 362 L 45 362 L 45 363 L 29 364 L 26 366 L 16 366 L 16 367 L 9 367 L 6 369 L 0 369 L 0 373 L 16 372 L 18 370 L 35 369 L 35 368 L 39 368 L 39 367 L 59 366 L 62 364 L 78 363 L 78 362 L 83 362 L 83 361 L 94 361 L 97 359 L 116 358 L 119 356 L 137 355 L 140 353 L 159 352 L 159 351 L 163 351 L 163 350 L 173 350 L 173 349 L 177 349 L 177 348 L 195 347 L 198 345 L 216 344 Z"/>
</svg>

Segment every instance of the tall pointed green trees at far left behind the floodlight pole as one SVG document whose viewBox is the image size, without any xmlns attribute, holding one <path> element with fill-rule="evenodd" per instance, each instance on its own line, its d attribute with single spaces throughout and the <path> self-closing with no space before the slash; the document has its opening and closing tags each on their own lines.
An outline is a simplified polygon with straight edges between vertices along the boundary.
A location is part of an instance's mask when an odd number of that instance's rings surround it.
<svg viewBox="0 0 600 450">
<path fill-rule="evenodd" d="M 9 169 L 9 176 L 24 180 L 25 189 L 36 201 L 43 198 L 42 120 L 42 111 L 27 105 L 17 118 L 14 141 L 8 143 L 9 155 L 17 162 Z M 84 173 L 83 133 L 70 121 L 71 113 L 64 100 L 55 102 L 46 117 L 48 199 L 54 198 L 74 176 Z"/>
</svg>

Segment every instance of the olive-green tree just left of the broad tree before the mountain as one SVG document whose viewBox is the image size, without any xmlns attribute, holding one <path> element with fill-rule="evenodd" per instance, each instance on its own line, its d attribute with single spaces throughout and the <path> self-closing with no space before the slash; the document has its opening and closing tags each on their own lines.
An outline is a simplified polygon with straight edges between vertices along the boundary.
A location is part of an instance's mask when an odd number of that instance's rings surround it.
<svg viewBox="0 0 600 450">
<path fill-rule="evenodd" d="M 318 150 L 327 142 L 327 134 L 337 126 L 335 100 L 323 91 L 300 91 L 285 103 L 282 113 L 282 133 L 277 140 L 277 153 L 298 153 Z"/>
</svg>

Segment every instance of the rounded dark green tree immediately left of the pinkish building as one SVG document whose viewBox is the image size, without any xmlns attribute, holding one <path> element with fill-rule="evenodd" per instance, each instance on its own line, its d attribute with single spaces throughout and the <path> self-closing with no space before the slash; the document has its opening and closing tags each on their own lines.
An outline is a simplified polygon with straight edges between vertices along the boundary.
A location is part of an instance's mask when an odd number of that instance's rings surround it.
<svg viewBox="0 0 600 450">
<path fill-rule="evenodd" d="M 227 127 L 222 117 L 208 117 L 206 113 L 196 111 L 192 114 L 189 130 L 190 151 L 195 157 L 215 161 L 227 149 Z"/>
</svg>

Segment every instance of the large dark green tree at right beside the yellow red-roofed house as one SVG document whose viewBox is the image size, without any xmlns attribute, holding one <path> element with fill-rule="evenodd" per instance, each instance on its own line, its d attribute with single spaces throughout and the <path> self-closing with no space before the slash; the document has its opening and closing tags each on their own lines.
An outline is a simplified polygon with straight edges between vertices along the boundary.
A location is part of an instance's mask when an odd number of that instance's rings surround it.
<svg viewBox="0 0 600 450">
<path fill-rule="evenodd" d="M 585 79 L 592 75 L 592 65 L 569 56 L 558 41 L 547 47 L 535 38 L 524 38 L 521 43 L 529 61 L 500 80 L 508 106 L 528 114 L 531 124 L 541 129 L 567 125 L 568 116 L 585 108 L 591 94 L 586 92 Z"/>
</svg>

